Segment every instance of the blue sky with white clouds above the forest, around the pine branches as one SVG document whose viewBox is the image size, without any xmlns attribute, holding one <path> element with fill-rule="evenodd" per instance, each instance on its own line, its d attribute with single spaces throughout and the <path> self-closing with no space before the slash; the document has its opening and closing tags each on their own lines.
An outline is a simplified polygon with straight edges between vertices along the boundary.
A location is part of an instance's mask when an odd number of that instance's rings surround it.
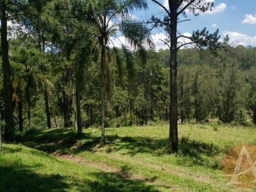
<svg viewBox="0 0 256 192">
<path fill-rule="evenodd" d="M 178 24 L 178 31 L 182 35 L 191 35 L 193 31 L 207 28 L 210 33 L 219 29 L 219 34 L 223 39 L 227 34 L 229 43 L 237 46 L 251 45 L 256 47 L 256 0 L 205 0 L 214 3 L 212 11 L 200 13 L 198 16 L 187 14 L 187 17 L 180 17 L 180 20 L 190 19 Z M 159 5 L 147 0 L 148 10 L 134 12 L 138 19 L 148 18 L 150 15 L 163 12 Z M 159 0 L 166 4 L 168 0 Z M 164 30 L 155 30 L 152 39 L 156 45 L 156 50 L 167 49 L 167 45 L 160 39 L 166 38 Z M 121 39 L 124 38 L 121 36 Z"/>
</svg>

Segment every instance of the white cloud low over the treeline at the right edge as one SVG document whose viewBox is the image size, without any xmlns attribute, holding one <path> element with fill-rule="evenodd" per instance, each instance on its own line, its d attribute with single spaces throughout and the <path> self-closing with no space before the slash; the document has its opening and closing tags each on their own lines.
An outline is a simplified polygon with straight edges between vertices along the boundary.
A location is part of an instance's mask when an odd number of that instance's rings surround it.
<svg viewBox="0 0 256 192">
<path fill-rule="evenodd" d="M 223 31 L 224 36 L 229 36 L 229 41 L 231 44 L 238 44 L 244 45 L 244 47 L 248 45 L 252 45 L 253 47 L 256 46 L 256 35 L 255 36 L 248 36 L 243 33 L 238 33 L 236 31 Z"/>
</svg>

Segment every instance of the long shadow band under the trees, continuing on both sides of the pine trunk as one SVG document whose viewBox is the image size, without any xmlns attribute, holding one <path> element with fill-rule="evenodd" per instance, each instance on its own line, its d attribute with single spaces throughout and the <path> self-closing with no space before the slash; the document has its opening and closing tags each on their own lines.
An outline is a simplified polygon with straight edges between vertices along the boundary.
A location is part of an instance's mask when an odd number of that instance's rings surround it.
<svg viewBox="0 0 256 192">
<path fill-rule="evenodd" d="M 97 152 L 102 148 L 111 154 L 121 151 L 122 154 L 135 156 L 145 153 L 153 156 L 163 156 L 168 154 L 168 138 L 150 138 L 147 136 L 124 136 L 116 135 L 106 136 L 106 143 L 100 142 L 100 137 L 92 133 L 83 133 L 82 138 L 77 138 L 75 131 L 71 129 L 52 129 L 49 131 L 30 131 L 17 137 L 20 142 L 35 147 L 45 152 L 60 152 L 62 154 L 79 154 L 86 150 Z M 205 161 L 206 157 L 216 157 L 227 152 L 227 149 L 205 143 L 203 141 L 190 140 L 188 137 L 182 137 L 179 141 L 180 158 L 178 164 L 190 164 L 211 166 L 214 169 L 221 168 L 221 162 L 216 161 L 209 164 Z M 214 160 L 215 161 L 215 160 Z"/>
</svg>

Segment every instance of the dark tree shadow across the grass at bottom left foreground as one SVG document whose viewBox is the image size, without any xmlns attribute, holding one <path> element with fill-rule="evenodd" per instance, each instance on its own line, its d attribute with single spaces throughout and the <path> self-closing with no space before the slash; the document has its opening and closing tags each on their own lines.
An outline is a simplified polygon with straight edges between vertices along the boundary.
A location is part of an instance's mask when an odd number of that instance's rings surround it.
<svg viewBox="0 0 256 192">
<path fill-rule="evenodd" d="M 118 173 L 90 172 L 85 179 L 72 180 L 67 184 L 67 177 L 61 175 L 38 174 L 30 169 L 33 167 L 9 165 L 0 166 L 1 192 L 32 192 L 32 191 L 157 191 L 141 180 L 121 177 Z"/>
</svg>

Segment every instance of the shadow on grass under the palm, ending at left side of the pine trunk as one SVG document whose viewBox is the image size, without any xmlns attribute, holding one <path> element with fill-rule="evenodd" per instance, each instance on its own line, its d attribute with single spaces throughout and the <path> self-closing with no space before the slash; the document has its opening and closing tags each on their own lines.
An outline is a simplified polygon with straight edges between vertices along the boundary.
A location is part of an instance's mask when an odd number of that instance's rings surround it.
<svg viewBox="0 0 256 192">
<path fill-rule="evenodd" d="M 119 137 L 118 135 L 106 136 L 106 142 L 100 142 L 99 136 L 92 133 L 83 133 L 82 138 L 77 138 L 71 129 L 52 129 L 50 131 L 33 130 L 17 136 L 17 141 L 45 152 L 61 152 L 63 154 L 79 153 L 81 150 L 95 152 L 104 147 L 111 153 L 125 149 L 125 154 L 134 156 L 138 153 L 152 153 L 160 156 L 166 154 L 168 139 L 152 139 L 149 137 Z"/>
</svg>

